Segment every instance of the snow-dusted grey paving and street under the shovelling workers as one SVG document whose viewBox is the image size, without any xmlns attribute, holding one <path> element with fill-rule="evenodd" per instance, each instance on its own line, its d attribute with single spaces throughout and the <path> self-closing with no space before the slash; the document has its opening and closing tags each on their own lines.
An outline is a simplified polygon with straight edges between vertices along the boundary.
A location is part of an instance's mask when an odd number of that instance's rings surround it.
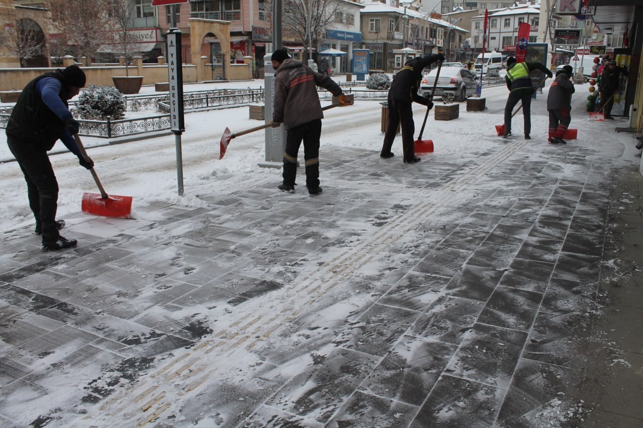
<svg viewBox="0 0 643 428">
<path fill-rule="evenodd" d="M 531 140 L 520 114 L 496 136 L 507 89 L 485 88 L 485 111 L 430 115 L 435 152 L 414 165 L 401 137 L 379 157 L 379 100 L 331 109 L 314 198 L 303 170 L 289 194 L 258 167 L 262 132 L 218 159 L 226 127 L 258 125 L 247 106 L 186 115 L 184 196 L 174 136 L 88 138 L 134 219 L 82 214 L 91 175 L 51 156 L 63 235 L 79 242 L 61 253 L 39 251 L 24 179 L 0 164 L 0 425 L 581 425 L 593 348 L 622 357 L 604 357 L 610 370 L 643 369 L 595 329 L 609 284 L 639 272 L 615 229 L 640 213 L 640 175 L 622 190 L 640 158 L 614 132 L 625 120 L 586 117 L 584 93 L 562 146 L 547 143 L 547 88 Z"/>
</svg>

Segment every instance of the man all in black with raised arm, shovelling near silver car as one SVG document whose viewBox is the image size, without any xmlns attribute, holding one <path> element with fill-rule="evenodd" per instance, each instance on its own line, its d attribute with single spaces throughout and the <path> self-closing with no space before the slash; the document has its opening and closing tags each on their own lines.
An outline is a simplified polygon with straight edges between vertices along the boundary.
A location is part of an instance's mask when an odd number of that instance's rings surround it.
<svg viewBox="0 0 643 428">
<path fill-rule="evenodd" d="M 394 156 L 391 148 L 393 147 L 397 127 L 401 124 L 404 163 L 420 161 L 420 158 L 415 156 L 415 147 L 413 146 L 415 122 L 413 121 L 411 105 L 415 101 L 429 108 L 433 107 L 431 100 L 420 96 L 417 92 L 420 89 L 422 70 L 437 61 L 444 61 L 444 55 L 437 54 L 413 58 L 406 62 L 404 67 L 393 78 L 391 87 L 388 90 L 388 123 L 382 151 L 379 154 L 380 157 L 388 159 Z"/>
</svg>

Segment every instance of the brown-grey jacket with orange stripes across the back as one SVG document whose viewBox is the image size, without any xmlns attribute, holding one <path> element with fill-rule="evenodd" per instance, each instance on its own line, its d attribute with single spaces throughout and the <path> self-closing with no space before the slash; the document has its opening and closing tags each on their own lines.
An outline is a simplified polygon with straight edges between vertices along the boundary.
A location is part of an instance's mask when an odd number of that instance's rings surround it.
<svg viewBox="0 0 643 428">
<path fill-rule="evenodd" d="M 284 60 L 275 73 L 273 121 L 284 122 L 290 129 L 323 118 L 316 86 L 334 96 L 342 94 L 340 85 L 329 76 L 312 71 L 299 60 Z"/>
</svg>

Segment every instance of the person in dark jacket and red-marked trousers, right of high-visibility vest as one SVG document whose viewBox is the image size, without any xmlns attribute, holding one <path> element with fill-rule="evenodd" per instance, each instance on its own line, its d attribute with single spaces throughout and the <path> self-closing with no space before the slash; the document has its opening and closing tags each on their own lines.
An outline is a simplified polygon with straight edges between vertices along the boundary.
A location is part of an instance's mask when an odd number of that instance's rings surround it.
<svg viewBox="0 0 643 428">
<path fill-rule="evenodd" d="M 565 66 L 556 73 L 556 80 L 549 87 L 547 94 L 547 111 L 549 112 L 549 141 L 552 144 L 567 144 L 563 139 L 569 123 L 572 121 L 572 94 L 575 92 L 572 82 L 572 66 Z"/>
</svg>

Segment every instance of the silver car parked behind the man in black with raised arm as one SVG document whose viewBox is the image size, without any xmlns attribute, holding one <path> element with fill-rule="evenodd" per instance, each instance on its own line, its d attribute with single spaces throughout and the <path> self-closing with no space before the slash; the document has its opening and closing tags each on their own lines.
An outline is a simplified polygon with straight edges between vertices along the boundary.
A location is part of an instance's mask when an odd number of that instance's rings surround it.
<svg viewBox="0 0 643 428">
<path fill-rule="evenodd" d="M 437 68 L 433 69 L 422 78 L 420 83 L 420 94 L 422 96 L 428 97 L 431 95 L 437 72 Z M 466 100 L 467 96 L 475 94 L 477 86 L 478 76 L 471 74 L 471 71 L 466 68 L 446 67 L 440 69 L 440 77 L 435 86 L 435 96 L 443 98 L 449 96 L 460 102 Z"/>
</svg>

